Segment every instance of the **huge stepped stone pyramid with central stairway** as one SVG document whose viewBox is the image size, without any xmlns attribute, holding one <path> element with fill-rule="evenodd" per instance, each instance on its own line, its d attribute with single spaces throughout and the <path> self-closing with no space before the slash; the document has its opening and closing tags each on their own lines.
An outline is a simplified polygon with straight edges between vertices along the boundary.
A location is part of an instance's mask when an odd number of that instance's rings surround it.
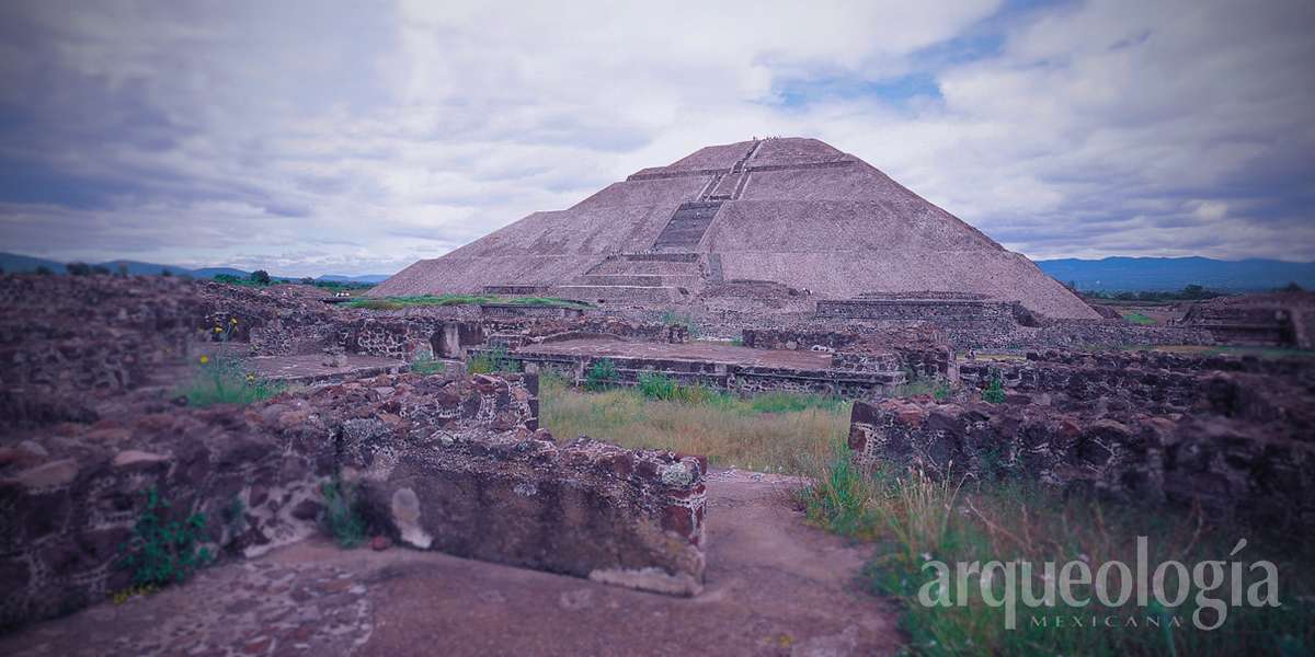
<svg viewBox="0 0 1315 657">
<path fill-rule="evenodd" d="M 807 138 L 700 148 L 571 209 L 537 212 L 421 260 L 372 294 L 537 292 L 669 306 L 735 280 L 838 300 L 967 293 L 1053 318 L 1098 318 L 1027 258 Z"/>
</svg>

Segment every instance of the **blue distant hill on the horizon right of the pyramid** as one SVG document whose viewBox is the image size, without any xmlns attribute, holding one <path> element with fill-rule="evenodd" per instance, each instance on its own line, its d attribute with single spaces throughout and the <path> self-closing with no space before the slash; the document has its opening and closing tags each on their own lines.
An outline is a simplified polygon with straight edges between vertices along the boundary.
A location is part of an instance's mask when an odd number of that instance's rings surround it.
<svg viewBox="0 0 1315 657">
<path fill-rule="evenodd" d="M 1215 260 L 1211 258 L 1105 258 L 1038 260 L 1052 279 L 1081 290 L 1178 290 L 1186 285 L 1253 292 L 1297 283 L 1315 289 L 1315 263 L 1283 260 Z"/>
</svg>

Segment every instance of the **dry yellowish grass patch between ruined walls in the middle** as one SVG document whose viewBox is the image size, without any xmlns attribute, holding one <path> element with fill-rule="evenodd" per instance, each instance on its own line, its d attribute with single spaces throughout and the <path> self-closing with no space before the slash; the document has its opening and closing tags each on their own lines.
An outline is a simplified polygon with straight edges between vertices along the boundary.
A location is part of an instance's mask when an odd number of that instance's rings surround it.
<svg viewBox="0 0 1315 657">
<path fill-rule="evenodd" d="M 633 389 L 584 393 L 552 377 L 540 385 L 540 422 L 555 436 L 706 455 L 721 466 L 810 472 L 849 432 L 847 403 L 798 403 L 810 407 L 771 413 L 727 397 L 685 403 L 647 399 Z"/>
</svg>

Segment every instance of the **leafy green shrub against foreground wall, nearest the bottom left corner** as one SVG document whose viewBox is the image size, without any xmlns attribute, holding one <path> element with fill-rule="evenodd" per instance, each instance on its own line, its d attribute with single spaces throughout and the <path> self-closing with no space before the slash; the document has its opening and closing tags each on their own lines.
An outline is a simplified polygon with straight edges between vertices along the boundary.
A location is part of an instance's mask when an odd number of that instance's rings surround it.
<svg viewBox="0 0 1315 657">
<path fill-rule="evenodd" d="M 151 486 L 142 491 L 146 509 L 133 526 L 129 541 L 120 545 L 122 566 L 133 570 L 135 586 L 166 586 L 187 581 L 197 569 L 213 560 L 208 548 L 200 547 L 205 514 L 191 514 L 183 520 L 170 520 L 168 501 Z"/>
</svg>

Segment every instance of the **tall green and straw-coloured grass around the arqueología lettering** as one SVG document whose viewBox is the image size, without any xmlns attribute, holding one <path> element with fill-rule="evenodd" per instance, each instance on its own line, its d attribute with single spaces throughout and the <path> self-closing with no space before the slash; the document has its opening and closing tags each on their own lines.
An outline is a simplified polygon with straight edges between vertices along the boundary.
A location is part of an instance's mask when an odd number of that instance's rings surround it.
<svg viewBox="0 0 1315 657">
<path fill-rule="evenodd" d="M 1176 560 L 1199 564 L 1228 558 L 1239 528 L 1211 526 L 1199 509 L 1186 514 L 1136 505 L 1103 505 L 1082 495 L 1059 495 L 1039 486 L 1005 481 L 934 481 L 922 472 L 876 469 L 863 472 L 838 445 L 832 459 L 813 473 L 814 484 L 800 499 L 809 518 L 836 533 L 872 540 L 877 551 L 863 579 L 874 594 L 901 600 L 901 625 L 910 636 L 913 654 L 1303 654 L 1315 641 L 1315 610 L 1290 604 L 1315 590 L 1315 578 L 1298 568 L 1310 549 L 1282 539 L 1252 539 L 1249 560 L 1278 562 L 1286 587 L 1278 608 L 1233 607 L 1227 623 L 1211 632 L 1191 627 L 1198 599 L 1173 614 L 1152 600 L 1147 608 L 1131 600 L 1120 607 L 1090 606 L 1019 608 L 1016 629 L 1006 629 L 1003 607 L 969 597 L 967 606 L 926 607 L 918 600 L 932 581 L 926 564 L 938 560 L 1002 562 L 1023 560 L 1040 570 L 1045 561 L 1078 560 L 1099 564 L 1119 560 L 1136 564 L 1136 537 L 1149 536 L 1149 562 Z M 1094 520 L 1088 520 L 1094 519 Z M 1245 536 L 1253 536 L 1247 531 Z M 1277 556 L 1287 555 L 1289 560 Z M 1233 557 L 1247 560 L 1241 556 Z M 1002 583 L 1002 582 L 1001 582 Z M 1019 586 L 1040 590 L 1040 577 Z M 977 581 L 970 585 L 976 590 Z M 990 583 L 988 583 L 990 586 Z M 1176 582 L 1174 586 L 1181 586 Z M 1224 582 L 1212 591 L 1228 599 Z M 1170 597 L 1173 590 L 1170 590 Z M 1308 598 L 1304 598 L 1308 599 Z M 1039 627 L 1028 614 L 1049 618 Z M 1053 624 L 1065 619 L 1063 628 Z M 1074 618 L 1097 623 L 1110 616 L 1116 627 L 1076 627 Z M 1161 627 L 1151 627 L 1153 616 Z M 1182 622 L 1173 627 L 1174 618 Z M 1134 619 L 1137 627 L 1127 627 Z"/>
</svg>

